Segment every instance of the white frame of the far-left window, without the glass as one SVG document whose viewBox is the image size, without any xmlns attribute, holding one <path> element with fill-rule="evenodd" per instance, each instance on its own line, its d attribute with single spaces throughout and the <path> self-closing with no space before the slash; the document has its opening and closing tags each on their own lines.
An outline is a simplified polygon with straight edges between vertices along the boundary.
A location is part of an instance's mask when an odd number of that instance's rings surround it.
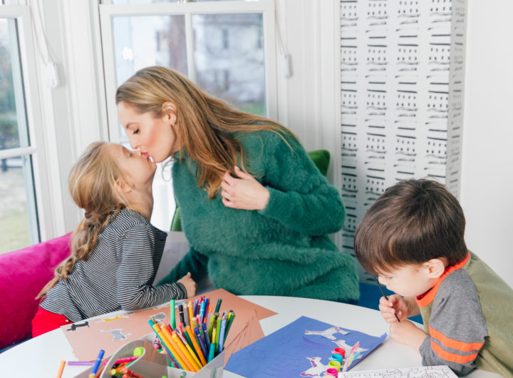
<svg viewBox="0 0 513 378">
<path fill-rule="evenodd" d="M 49 183 L 46 177 L 46 156 L 44 148 L 43 124 L 41 122 L 41 104 L 38 94 L 36 56 L 32 36 L 32 19 L 28 6 L 2 5 L 0 6 L 1 19 L 16 19 L 18 26 L 19 59 L 23 79 L 25 108 L 17 109 L 26 112 L 26 126 L 30 144 L 26 147 L 0 150 L 0 158 L 15 156 L 28 156 L 32 158 L 33 190 L 35 193 L 36 213 L 33 213 L 31 198 L 26 198 L 29 211 L 29 227 L 31 227 L 31 243 L 46 240 L 53 235 L 51 206 L 45 198 L 50 195 Z M 14 70 L 19 67 L 13 67 Z M 19 95 L 18 95 L 19 96 Z M 19 101 L 16 101 L 18 103 Z M 20 116 L 19 116 L 20 117 Z M 20 127 L 24 126 L 21 125 Z M 28 184 L 27 182 L 25 183 Z M 32 183 L 31 183 L 32 184 Z M 36 237 L 33 228 L 38 230 Z"/>
</svg>

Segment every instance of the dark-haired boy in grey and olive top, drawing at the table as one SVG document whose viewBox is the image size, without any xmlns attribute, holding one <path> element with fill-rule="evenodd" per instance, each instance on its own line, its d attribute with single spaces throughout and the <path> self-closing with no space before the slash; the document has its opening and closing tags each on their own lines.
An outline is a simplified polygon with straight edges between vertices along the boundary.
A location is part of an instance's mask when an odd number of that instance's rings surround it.
<svg viewBox="0 0 513 378">
<path fill-rule="evenodd" d="M 462 208 L 445 186 L 402 181 L 363 217 L 355 252 L 397 293 L 381 297 L 381 315 L 390 337 L 418 350 L 423 365 L 513 377 L 513 290 L 467 250 L 464 233 Z M 406 320 L 419 313 L 425 332 Z"/>
</svg>

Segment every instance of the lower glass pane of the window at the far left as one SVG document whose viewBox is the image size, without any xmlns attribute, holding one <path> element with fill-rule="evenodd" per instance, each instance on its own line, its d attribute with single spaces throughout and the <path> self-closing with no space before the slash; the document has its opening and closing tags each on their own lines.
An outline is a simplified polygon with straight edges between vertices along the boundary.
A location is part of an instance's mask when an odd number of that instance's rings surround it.
<svg viewBox="0 0 513 378">
<path fill-rule="evenodd" d="M 30 155 L 0 160 L 0 253 L 39 241 Z"/>
</svg>

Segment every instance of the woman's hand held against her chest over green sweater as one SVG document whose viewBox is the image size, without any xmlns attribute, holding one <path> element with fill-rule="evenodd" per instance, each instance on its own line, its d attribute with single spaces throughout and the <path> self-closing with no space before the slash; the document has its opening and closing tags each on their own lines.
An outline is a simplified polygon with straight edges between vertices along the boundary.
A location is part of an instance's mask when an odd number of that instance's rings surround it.
<svg viewBox="0 0 513 378">
<path fill-rule="evenodd" d="M 262 210 L 269 202 L 269 190 L 255 178 L 235 167 L 234 178 L 229 171 L 224 173 L 221 183 L 221 196 L 227 208 L 244 210 Z"/>
</svg>

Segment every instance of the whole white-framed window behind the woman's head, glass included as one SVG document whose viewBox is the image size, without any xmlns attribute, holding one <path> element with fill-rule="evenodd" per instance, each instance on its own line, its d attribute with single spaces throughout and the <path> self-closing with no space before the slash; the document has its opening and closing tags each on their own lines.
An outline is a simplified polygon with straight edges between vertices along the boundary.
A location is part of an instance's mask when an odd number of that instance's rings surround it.
<svg viewBox="0 0 513 378">
<path fill-rule="evenodd" d="M 277 118 L 273 1 L 113 3 L 100 5 L 110 141 L 128 141 L 118 121 L 115 89 L 153 65 L 180 71 L 235 108 Z M 153 193 L 152 223 L 169 229 L 175 204 L 160 170 Z"/>
</svg>

